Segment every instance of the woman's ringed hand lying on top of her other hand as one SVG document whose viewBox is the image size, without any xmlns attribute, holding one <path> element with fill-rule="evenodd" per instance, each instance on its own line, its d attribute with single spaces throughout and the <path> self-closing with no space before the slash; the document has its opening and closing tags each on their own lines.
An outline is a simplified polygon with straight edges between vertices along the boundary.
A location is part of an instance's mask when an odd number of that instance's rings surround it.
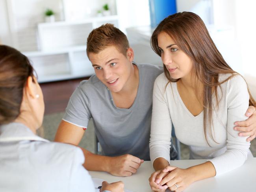
<svg viewBox="0 0 256 192">
<path fill-rule="evenodd" d="M 155 179 L 156 184 L 160 186 L 167 186 L 171 191 L 175 192 L 184 191 L 187 186 L 193 182 L 194 179 L 191 170 L 173 166 L 166 166 L 160 171 Z"/>
</svg>

